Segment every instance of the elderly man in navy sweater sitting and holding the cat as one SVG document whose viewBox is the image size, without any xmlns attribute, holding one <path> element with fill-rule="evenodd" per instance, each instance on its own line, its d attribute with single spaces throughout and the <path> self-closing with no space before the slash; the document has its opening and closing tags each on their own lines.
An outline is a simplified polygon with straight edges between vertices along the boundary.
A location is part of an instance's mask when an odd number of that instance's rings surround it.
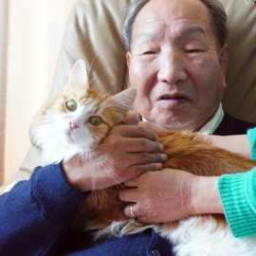
<svg viewBox="0 0 256 256">
<path fill-rule="evenodd" d="M 125 27 L 130 80 L 137 88 L 136 107 L 143 119 L 165 129 L 246 133 L 246 122 L 229 116 L 223 119 L 220 101 L 229 47 L 225 44 L 226 15 L 218 2 L 135 1 Z M 146 128 L 120 125 L 104 140 L 101 154 L 113 163 L 118 181 L 134 187 L 137 184 L 132 178 L 161 169 L 165 156 L 155 140 Z M 39 167 L 28 181 L 19 182 L 0 197 L 0 220 L 5 222 L 0 228 L 2 254 L 172 255 L 172 245 L 150 229 L 96 243 L 88 232 L 72 232 L 70 224 L 77 208 L 92 189 L 91 172 L 83 169 L 86 164 L 79 161 L 76 166 L 67 162 Z M 97 169 L 101 171 L 101 163 Z M 80 180 L 76 173 L 82 174 Z M 96 190 L 118 182 L 105 174 L 102 187 L 103 172 L 95 174 L 99 174 L 95 176 Z M 131 201 L 137 203 L 135 213 L 143 215 L 139 202 Z"/>
</svg>

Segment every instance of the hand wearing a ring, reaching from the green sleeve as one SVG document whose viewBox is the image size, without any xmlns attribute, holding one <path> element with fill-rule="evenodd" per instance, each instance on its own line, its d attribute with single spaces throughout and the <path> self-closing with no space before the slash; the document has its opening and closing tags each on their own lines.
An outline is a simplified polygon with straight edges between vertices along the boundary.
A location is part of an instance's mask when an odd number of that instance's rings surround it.
<svg viewBox="0 0 256 256">
<path fill-rule="evenodd" d="M 172 169 L 149 172 L 124 183 L 120 200 L 132 202 L 125 214 L 141 223 L 166 223 L 193 214 L 222 213 L 218 177 L 199 177 Z M 212 199 L 212 200 L 211 200 Z"/>
</svg>

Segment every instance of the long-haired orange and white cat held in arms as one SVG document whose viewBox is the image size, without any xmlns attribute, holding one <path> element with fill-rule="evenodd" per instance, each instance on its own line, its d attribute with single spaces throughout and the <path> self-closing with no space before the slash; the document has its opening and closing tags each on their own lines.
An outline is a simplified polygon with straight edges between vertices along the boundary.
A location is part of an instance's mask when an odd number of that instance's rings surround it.
<svg viewBox="0 0 256 256">
<path fill-rule="evenodd" d="M 46 102 L 35 122 L 35 142 L 45 163 L 65 161 L 73 155 L 89 159 L 110 129 L 123 122 L 135 98 L 134 89 L 111 97 L 101 95 L 90 84 L 85 64 L 79 60 L 64 89 Z M 164 163 L 166 168 L 197 175 L 220 175 L 246 172 L 256 165 L 241 155 L 201 143 L 189 132 L 156 134 L 169 155 Z M 155 229 L 174 245 L 177 256 L 256 255 L 256 238 L 235 239 L 222 214 L 196 215 L 167 224 L 139 224 L 125 216 L 126 203 L 119 201 L 120 189 L 121 184 L 92 192 L 80 207 L 74 229 L 98 230 L 96 239 Z"/>
</svg>

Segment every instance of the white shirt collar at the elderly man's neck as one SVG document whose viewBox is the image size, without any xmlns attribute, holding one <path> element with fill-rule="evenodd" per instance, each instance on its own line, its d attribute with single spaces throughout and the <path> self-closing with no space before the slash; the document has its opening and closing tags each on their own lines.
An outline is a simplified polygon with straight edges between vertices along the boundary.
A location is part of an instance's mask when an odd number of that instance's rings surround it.
<svg viewBox="0 0 256 256">
<path fill-rule="evenodd" d="M 220 102 L 220 105 L 215 112 L 214 116 L 210 121 L 208 121 L 197 133 L 200 135 L 211 135 L 214 133 L 214 131 L 217 129 L 219 124 L 221 123 L 222 119 L 224 117 L 224 111 L 222 108 L 222 103 Z M 142 117 L 143 121 L 147 121 Z"/>
</svg>

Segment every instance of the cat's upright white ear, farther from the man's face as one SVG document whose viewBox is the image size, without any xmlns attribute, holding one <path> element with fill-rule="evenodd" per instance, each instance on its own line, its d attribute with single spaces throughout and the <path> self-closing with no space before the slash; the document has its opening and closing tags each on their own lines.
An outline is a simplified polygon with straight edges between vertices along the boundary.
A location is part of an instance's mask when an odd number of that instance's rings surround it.
<svg viewBox="0 0 256 256">
<path fill-rule="evenodd" d="M 78 60 L 69 74 L 68 80 L 70 82 L 79 83 L 81 85 L 87 85 L 89 83 L 87 68 L 82 59 Z"/>
</svg>

